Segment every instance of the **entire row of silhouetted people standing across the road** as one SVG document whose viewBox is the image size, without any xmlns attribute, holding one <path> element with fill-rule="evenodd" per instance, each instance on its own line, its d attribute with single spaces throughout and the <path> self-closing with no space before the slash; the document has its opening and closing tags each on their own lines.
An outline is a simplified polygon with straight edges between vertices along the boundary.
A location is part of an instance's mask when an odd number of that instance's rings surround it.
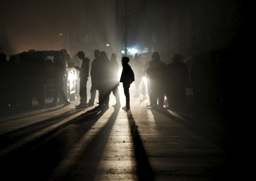
<svg viewBox="0 0 256 181">
<path fill-rule="evenodd" d="M 109 96 L 113 92 L 116 103 L 113 107 L 120 107 L 119 89 L 120 82 L 123 85 L 123 91 L 126 96 L 126 105 L 124 110 L 130 109 L 130 84 L 135 82 L 136 94 L 134 97 L 139 97 L 143 76 L 147 76 L 148 90 L 150 96 L 150 107 L 163 108 L 165 94 L 168 99 L 168 106 L 178 105 L 184 102 L 185 82 L 188 77 L 186 65 L 180 60 L 179 56 L 173 58 L 173 63 L 166 64 L 160 61 L 158 52 L 152 54 L 152 59 L 144 64 L 139 60 L 138 54 L 134 57 L 133 69 L 129 63 L 129 57 L 122 57 L 122 73 L 119 79 L 119 63 L 117 62 L 118 55 L 111 54 L 111 58 L 107 57 L 105 51 L 94 51 L 94 59 L 91 62 L 85 57 L 83 51 L 79 51 L 77 57 L 81 60 L 81 66 L 75 66 L 79 71 L 79 96 L 80 104 L 77 108 L 86 108 L 93 106 L 95 102 L 96 91 L 98 90 L 98 106 L 95 109 L 108 109 Z M 33 59 L 33 60 L 32 60 Z M 35 61 L 36 60 L 36 61 Z M 7 61 L 6 55 L 1 54 L 1 78 L 3 85 L 7 85 L 7 89 L 2 89 L 2 93 L 6 95 L 1 101 L 1 107 L 16 107 L 18 104 L 22 108 L 32 107 L 32 97 L 36 97 L 40 108 L 45 107 L 45 84 L 52 80 L 54 83 L 54 99 L 51 107 L 56 107 L 57 99 L 60 94 L 64 100 L 64 106 L 70 105 L 66 94 L 63 90 L 65 76 L 64 64 L 58 52 L 54 53 L 54 68 L 52 76 L 49 77 L 47 72 L 47 64 L 43 55 L 38 51 L 33 58 L 28 56 L 27 52 L 19 54 L 20 63 L 17 64 L 15 57 L 10 57 Z M 181 73 L 183 72 L 183 73 Z M 183 78 L 180 79 L 180 74 Z M 91 76 L 90 99 L 87 102 L 87 81 Z M 168 77 L 168 79 L 166 79 Z M 144 87 L 145 88 L 145 87 Z M 150 93 L 149 93 L 150 92 Z M 158 102 L 157 102 L 158 100 Z M 182 100 L 182 101 L 181 101 Z"/>
</svg>

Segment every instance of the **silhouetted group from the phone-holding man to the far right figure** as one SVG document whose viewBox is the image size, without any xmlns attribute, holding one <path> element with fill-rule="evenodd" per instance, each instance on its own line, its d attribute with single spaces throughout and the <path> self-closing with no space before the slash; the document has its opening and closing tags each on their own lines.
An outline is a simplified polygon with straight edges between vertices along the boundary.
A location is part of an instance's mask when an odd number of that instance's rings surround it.
<svg viewBox="0 0 256 181">
<path fill-rule="evenodd" d="M 182 60 L 182 55 L 175 54 L 173 62 L 166 65 L 165 62 L 160 60 L 158 52 L 154 52 L 151 60 L 144 64 L 139 60 L 138 54 L 134 57 L 133 69 L 129 63 L 129 57 L 122 57 L 122 73 L 120 79 L 118 78 L 119 65 L 117 62 L 117 54 L 111 54 L 111 60 L 107 58 L 106 52 L 95 50 L 91 63 L 91 97 L 87 103 L 87 89 L 86 84 L 89 77 L 89 59 L 85 57 L 83 52 L 78 52 L 79 59 L 82 60 L 81 68 L 77 67 L 80 71 L 80 104 L 76 107 L 86 108 L 93 106 L 96 96 L 96 90 L 99 92 L 99 102 L 95 109 L 108 109 L 109 96 L 113 92 L 116 104 L 114 107 L 120 107 L 120 97 L 118 86 L 122 82 L 123 90 L 126 96 L 126 106 L 124 110 L 130 109 L 130 94 L 129 88 L 131 83 L 135 83 L 136 94 L 134 97 L 139 97 L 141 91 L 140 85 L 144 76 L 147 76 L 148 82 L 147 91 L 150 99 L 152 109 L 164 109 L 164 99 L 167 97 L 168 106 L 165 109 L 182 108 L 186 101 L 186 82 L 189 78 L 189 71 L 187 66 Z M 143 87 L 146 88 L 146 87 Z M 144 94 L 145 95 L 145 94 Z"/>
</svg>

